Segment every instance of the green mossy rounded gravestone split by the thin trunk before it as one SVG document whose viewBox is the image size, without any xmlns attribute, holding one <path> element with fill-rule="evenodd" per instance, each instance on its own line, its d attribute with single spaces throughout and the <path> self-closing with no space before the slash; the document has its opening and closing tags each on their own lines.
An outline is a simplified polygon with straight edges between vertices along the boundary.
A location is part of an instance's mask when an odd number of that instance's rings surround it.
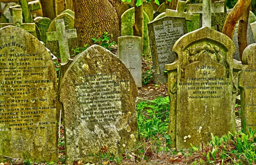
<svg viewBox="0 0 256 165">
<path fill-rule="evenodd" d="M 149 39 L 148 39 L 148 22 L 149 18 L 145 12 L 143 12 L 143 53 L 150 53 Z M 135 22 L 134 7 L 128 9 L 122 14 L 122 27 L 121 36 L 133 36 L 133 28 Z"/>
</svg>

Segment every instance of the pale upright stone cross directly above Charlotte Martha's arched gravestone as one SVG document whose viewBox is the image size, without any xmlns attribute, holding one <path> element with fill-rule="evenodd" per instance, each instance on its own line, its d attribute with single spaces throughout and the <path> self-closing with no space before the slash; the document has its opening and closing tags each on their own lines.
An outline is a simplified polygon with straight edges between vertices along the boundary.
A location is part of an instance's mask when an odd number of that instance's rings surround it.
<svg viewBox="0 0 256 165">
<path fill-rule="evenodd" d="M 199 4 L 187 5 L 187 13 L 201 14 L 201 27 L 211 28 L 212 13 L 223 13 L 224 3 L 213 3 L 211 0 L 202 0 Z"/>
</svg>

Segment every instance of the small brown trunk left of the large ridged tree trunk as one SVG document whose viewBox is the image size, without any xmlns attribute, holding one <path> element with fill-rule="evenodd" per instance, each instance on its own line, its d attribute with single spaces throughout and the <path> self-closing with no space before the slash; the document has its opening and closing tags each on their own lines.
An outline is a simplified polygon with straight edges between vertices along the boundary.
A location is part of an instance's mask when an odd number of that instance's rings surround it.
<svg viewBox="0 0 256 165">
<path fill-rule="evenodd" d="M 57 16 L 55 0 L 40 0 L 44 17 L 53 20 Z"/>
</svg>

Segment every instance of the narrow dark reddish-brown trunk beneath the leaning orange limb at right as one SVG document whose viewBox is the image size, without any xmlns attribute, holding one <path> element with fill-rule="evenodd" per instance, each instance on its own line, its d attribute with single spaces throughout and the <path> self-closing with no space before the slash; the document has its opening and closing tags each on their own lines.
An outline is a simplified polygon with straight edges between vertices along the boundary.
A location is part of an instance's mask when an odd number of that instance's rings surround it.
<svg viewBox="0 0 256 165">
<path fill-rule="evenodd" d="M 238 26 L 238 46 L 239 46 L 239 55 L 242 63 L 243 63 L 242 55 L 243 55 L 244 49 L 247 47 L 247 26 L 249 21 L 249 13 L 250 13 L 250 5 L 247 7 L 247 10 L 244 12 L 241 19 L 239 20 L 239 26 Z"/>
</svg>

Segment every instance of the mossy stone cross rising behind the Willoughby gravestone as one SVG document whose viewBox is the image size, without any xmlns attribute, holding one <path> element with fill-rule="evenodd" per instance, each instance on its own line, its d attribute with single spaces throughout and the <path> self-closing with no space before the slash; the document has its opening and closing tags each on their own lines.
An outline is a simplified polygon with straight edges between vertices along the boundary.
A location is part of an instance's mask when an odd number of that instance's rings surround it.
<svg viewBox="0 0 256 165">
<path fill-rule="evenodd" d="M 27 32 L 35 32 L 35 23 L 23 23 L 22 22 L 22 9 L 21 8 L 13 8 L 13 23 L 1 23 L 0 28 L 13 25 L 19 28 L 22 28 Z"/>
</svg>

